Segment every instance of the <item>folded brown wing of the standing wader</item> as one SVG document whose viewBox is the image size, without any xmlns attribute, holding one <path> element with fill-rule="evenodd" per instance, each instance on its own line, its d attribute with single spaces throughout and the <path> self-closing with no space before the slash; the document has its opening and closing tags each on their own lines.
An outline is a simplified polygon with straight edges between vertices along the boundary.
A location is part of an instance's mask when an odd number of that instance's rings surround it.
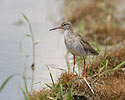
<svg viewBox="0 0 125 100">
<path fill-rule="evenodd" d="M 81 35 L 76 34 L 77 40 L 82 44 L 87 53 L 98 55 L 98 52 Z"/>
</svg>

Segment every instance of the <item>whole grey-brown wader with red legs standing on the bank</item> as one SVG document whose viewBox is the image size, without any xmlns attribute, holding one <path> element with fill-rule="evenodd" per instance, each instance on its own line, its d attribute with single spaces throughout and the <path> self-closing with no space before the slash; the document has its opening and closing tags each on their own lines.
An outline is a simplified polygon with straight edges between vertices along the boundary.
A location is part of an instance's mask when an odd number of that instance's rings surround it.
<svg viewBox="0 0 125 100">
<path fill-rule="evenodd" d="M 84 75 L 81 76 L 80 78 L 86 78 L 85 56 L 98 55 L 99 53 L 90 45 L 90 43 L 85 38 L 83 38 L 81 35 L 73 31 L 71 22 L 63 22 L 59 27 L 52 28 L 49 31 L 56 30 L 56 29 L 63 29 L 65 31 L 64 42 L 65 42 L 66 48 L 74 57 L 74 65 L 73 65 L 71 78 L 75 76 L 74 70 L 75 70 L 75 57 L 76 56 L 82 56 L 83 58 L 83 62 L 84 62 L 83 74 Z"/>
</svg>

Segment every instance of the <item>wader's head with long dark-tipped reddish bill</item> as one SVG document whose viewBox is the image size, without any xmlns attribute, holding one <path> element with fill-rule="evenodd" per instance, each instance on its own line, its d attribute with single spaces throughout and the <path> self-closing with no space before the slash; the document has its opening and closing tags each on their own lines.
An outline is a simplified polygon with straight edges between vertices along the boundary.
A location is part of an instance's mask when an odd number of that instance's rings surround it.
<svg viewBox="0 0 125 100">
<path fill-rule="evenodd" d="M 55 30 L 55 29 L 63 29 L 63 30 L 69 30 L 72 28 L 72 24 L 70 22 L 63 22 L 61 26 L 52 28 L 49 31 Z"/>
</svg>

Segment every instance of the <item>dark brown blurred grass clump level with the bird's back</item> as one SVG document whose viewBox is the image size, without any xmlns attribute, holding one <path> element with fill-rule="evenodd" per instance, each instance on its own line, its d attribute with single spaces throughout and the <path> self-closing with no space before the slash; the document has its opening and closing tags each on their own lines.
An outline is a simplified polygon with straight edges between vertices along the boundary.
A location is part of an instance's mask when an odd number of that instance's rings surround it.
<svg viewBox="0 0 125 100">
<path fill-rule="evenodd" d="M 125 40 L 125 29 L 120 27 L 110 26 L 108 29 L 106 26 L 99 26 L 94 30 L 94 33 L 96 33 L 98 44 L 102 45 L 105 45 L 106 40 L 108 45 L 117 44 Z M 86 37 L 94 41 L 93 32 L 88 33 Z"/>
</svg>

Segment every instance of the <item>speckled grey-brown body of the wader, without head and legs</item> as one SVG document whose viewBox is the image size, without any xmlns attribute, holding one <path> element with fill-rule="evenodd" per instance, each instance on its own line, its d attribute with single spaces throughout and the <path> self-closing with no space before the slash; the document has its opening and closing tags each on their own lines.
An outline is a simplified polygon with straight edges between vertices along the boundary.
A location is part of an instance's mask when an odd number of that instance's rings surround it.
<svg viewBox="0 0 125 100">
<path fill-rule="evenodd" d="M 98 52 L 81 35 L 74 33 L 72 29 L 65 30 L 64 40 L 68 51 L 73 55 L 98 55 Z"/>
</svg>

